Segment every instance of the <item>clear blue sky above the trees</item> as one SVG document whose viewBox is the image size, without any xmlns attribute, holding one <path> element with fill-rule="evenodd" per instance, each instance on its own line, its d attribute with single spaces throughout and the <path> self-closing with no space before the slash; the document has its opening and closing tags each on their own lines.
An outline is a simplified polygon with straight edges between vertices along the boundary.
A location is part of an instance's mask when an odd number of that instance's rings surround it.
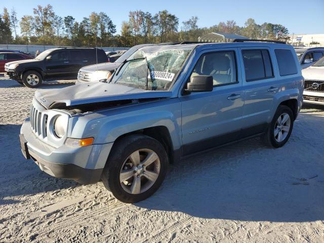
<svg viewBox="0 0 324 243">
<path fill-rule="evenodd" d="M 179 18 L 179 27 L 182 21 L 191 16 L 199 18 L 199 27 L 209 27 L 226 20 L 234 20 L 239 26 L 243 26 L 248 18 L 254 18 L 258 24 L 282 24 L 290 33 L 324 33 L 324 0 L 1 0 L 0 9 L 7 7 L 11 10 L 14 7 L 20 19 L 23 15 L 32 15 L 32 8 L 37 5 L 46 4 L 51 4 L 57 15 L 71 15 L 76 21 L 89 16 L 91 12 L 105 12 L 116 25 L 117 33 L 120 33 L 121 22 L 128 20 L 129 11 L 142 10 L 155 14 L 164 9 Z"/>
</svg>

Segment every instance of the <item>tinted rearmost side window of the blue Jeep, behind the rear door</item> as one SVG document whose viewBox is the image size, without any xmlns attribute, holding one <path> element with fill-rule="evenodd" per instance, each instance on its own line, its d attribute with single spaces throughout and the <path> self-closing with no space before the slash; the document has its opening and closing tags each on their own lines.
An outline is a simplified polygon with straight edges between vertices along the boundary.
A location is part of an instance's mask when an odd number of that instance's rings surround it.
<svg viewBox="0 0 324 243">
<path fill-rule="evenodd" d="M 297 73 L 295 58 L 291 50 L 274 50 L 277 59 L 280 76 L 286 76 Z"/>
</svg>

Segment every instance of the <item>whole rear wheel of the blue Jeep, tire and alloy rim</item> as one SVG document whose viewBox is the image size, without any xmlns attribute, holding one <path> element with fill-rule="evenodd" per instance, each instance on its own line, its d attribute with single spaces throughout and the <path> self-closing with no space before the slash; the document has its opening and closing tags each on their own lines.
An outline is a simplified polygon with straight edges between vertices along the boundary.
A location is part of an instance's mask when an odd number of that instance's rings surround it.
<svg viewBox="0 0 324 243">
<path fill-rule="evenodd" d="M 279 117 L 281 119 L 282 124 L 279 124 L 279 120 L 278 120 Z M 283 122 L 284 120 L 286 120 L 285 123 Z M 267 132 L 261 137 L 261 139 L 268 146 L 274 148 L 282 147 L 287 143 L 288 139 L 290 138 L 290 135 L 293 131 L 293 127 L 294 127 L 293 111 L 291 110 L 291 108 L 289 108 L 286 105 L 280 105 L 273 116 L 273 119 L 267 129 Z M 280 133 L 281 133 L 281 137 L 280 137 Z"/>
</svg>

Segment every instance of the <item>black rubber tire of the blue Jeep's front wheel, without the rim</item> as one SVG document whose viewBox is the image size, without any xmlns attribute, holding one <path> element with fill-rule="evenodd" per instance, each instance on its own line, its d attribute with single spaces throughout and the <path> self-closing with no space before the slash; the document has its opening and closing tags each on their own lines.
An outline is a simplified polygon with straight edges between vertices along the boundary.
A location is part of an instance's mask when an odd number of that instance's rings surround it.
<svg viewBox="0 0 324 243">
<path fill-rule="evenodd" d="M 134 151 L 142 148 L 151 149 L 158 155 L 160 160 L 160 172 L 155 183 L 147 191 L 140 194 L 130 194 L 120 185 L 119 173 L 127 157 Z M 108 178 L 109 189 L 114 197 L 124 203 L 136 203 L 151 196 L 163 182 L 169 164 L 164 146 L 157 140 L 145 135 L 132 135 L 119 140 L 111 156 L 109 156 L 107 163 L 108 166 L 105 167 L 103 173 L 109 173 L 109 176 L 106 177 Z"/>
</svg>

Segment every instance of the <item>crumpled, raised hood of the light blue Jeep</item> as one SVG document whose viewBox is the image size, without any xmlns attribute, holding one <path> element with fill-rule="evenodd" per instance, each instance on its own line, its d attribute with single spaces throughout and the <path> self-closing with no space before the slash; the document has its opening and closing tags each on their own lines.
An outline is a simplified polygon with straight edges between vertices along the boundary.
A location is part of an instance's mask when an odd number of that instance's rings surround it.
<svg viewBox="0 0 324 243">
<path fill-rule="evenodd" d="M 158 99 L 171 97 L 171 91 L 146 91 L 124 85 L 79 84 L 63 89 L 39 90 L 36 100 L 49 109 L 118 100 Z"/>
</svg>

